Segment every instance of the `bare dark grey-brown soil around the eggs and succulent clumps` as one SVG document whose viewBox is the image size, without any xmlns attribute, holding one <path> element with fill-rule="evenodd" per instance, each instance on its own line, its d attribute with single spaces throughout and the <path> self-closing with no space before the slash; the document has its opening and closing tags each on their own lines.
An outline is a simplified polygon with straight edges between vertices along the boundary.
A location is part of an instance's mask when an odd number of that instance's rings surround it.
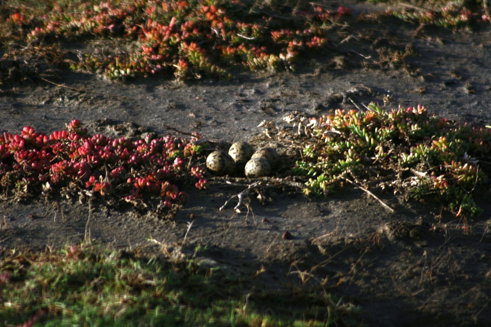
<svg viewBox="0 0 491 327">
<path fill-rule="evenodd" d="M 385 9 L 366 2 L 349 5 L 355 17 Z M 357 40 L 355 35 L 342 47 L 305 58 L 296 72 L 239 73 L 229 81 L 113 82 L 41 67 L 38 76 L 2 89 L 0 131 L 19 133 L 30 125 L 48 134 L 79 119 L 92 134 L 180 136 L 164 124 L 196 130 L 218 149 L 226 150 L 237 140 L 272 145 L 288 165 L 298 149 L 268 138 L 256 127 L 263 120 L 282 126 L 282 117 L 291 112 L 319 115 L 371 101 L 383 103 L 385 97 L 392 107 L 423 104 L 442 117 L 477 126 L 491 122 L 489 26 L 473 31 L 418 29 L 395 19 L 377 26 L 356 24 L 371 38 Z M 64 49 L 69 56 L 80 48 L 117 46 L 112 42 L 80 42 Z M 397 62 L 377 63 L 382 47 L 412 47 L 414 54 L 405 58 L 409 69 Z M 273 289 L 300 280 L 324 280 L 328 290 L 360 306 L 361 320 L 368 326 L 491 326 L 489 191 L 476 199 L 484 213 L 468 219 L 463 229 L 462 221 L 438 203 L 373 188 L 394 208 L 390 213 L 350 185 L 327 198 L 278 188 L 267 194 L 267 205 L 250 196 L 249 210 L 236 213 L 236 201 L 219 210 L 243 190 L 218 181 L 207 191 L 184 187 L 189 200 L 172 220 L 99 200 L 3 199 L 0 246 L 44 248 L 77 242 L 84 238 L 90 217 L 90 237 L 103 244 L 161 250 L 148 241 L 153 237 L 166 251 L 185 254 L 206 245 L 201 255 L 210 266 L 244 274 L 263 266 L 265 272 L 257 278 Z"/>
</svg>

